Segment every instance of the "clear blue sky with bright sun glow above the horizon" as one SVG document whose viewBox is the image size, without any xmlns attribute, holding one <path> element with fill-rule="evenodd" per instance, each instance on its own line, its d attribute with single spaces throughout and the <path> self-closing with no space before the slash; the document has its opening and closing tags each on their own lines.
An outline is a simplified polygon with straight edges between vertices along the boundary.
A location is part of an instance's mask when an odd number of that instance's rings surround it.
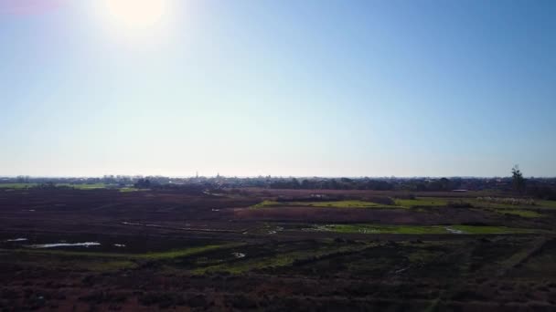
<svg viewBox="0 0 556 312">
<path fill-rule="evenodd" d="M 0 175 L 556 176 L 554 16 L 551 0 L 0 0 Z"/>
</svg>

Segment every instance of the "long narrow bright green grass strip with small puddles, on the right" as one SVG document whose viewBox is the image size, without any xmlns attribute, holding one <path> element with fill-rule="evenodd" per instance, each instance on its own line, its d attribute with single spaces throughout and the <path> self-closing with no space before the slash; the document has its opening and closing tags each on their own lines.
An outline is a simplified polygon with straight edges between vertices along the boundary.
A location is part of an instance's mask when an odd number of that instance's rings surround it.
<svg viewBox="0 0 556 312">
<path fill-rule="evenodd" d="M 480 225 L 376 225 L 376 224 L 326 224 L 317 225 L 310 231 L 361 234 L 527 234 L 538 230 Z"/>
</svg>

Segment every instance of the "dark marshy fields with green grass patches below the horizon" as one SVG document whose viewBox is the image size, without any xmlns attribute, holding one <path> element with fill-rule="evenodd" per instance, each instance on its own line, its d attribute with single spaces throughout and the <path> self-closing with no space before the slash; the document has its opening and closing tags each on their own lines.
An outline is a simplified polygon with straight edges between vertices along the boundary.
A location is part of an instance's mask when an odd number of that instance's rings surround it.
<svg viewBox="0 0 556 312">
<path fill-rule="evenodd" d="M 556 201 L 145 183 L 0 183 L 0 309 L 556 309 Z"/>
</svg>

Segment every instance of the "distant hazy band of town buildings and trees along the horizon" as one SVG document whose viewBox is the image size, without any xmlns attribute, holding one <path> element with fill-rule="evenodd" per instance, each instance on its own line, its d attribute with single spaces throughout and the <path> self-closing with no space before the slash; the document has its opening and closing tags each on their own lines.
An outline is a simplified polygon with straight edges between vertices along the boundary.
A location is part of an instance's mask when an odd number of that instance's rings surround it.
<svg viewBox="0 0 556 312">
<path fill-rule="evenodd" d="M 512 191 L 512 177 L 383 177 L 383 178 L 326 178 L 326 177 L 212 177 L 195 176 L 171 178 L 165 176 L 104 175 L 103 177 L 51 178 L 51 177 L 0 177 L 0 187 L 58 187 L 58 188 L 137 188 L 137 189 L 304 189 L 304 190 L 372 190 L 408 192 L 467 192 L 467 191 Z M 556 178 L 526 179 L 524 195 L 544 199 L 556 199 Z"/>
</svg>

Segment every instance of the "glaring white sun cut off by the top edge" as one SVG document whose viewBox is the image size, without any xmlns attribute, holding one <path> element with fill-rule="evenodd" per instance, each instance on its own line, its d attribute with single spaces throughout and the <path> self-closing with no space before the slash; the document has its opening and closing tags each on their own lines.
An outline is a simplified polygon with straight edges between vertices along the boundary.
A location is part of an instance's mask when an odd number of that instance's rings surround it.
<svg viewBox="0 0 556 312">
<path fill-rule="evenodd" d="M 131 29 L 142 29 L 160 23 L 168 9 L 168 0 L 104 0 L 115 22 Z"/>
</svg>

